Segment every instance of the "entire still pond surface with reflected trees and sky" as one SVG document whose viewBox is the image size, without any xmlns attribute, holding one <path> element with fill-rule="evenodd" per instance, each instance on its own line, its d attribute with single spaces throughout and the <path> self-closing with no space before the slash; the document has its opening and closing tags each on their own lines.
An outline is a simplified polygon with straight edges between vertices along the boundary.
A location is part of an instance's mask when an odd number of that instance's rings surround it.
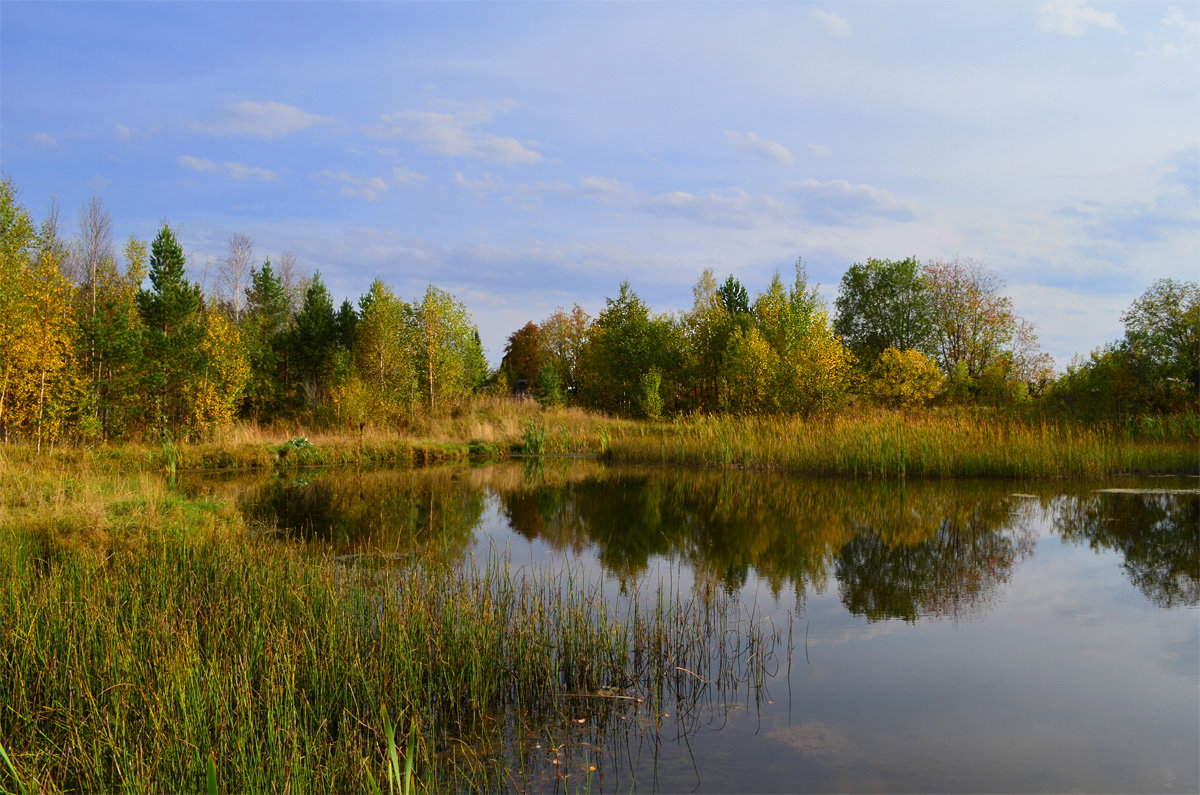
<svg viewBox="0 0 1200 795">
<path fill-rule="evenodd" d="M 497 751 L 526 769 L 514 789 L 1200 791 L 1195 478 L 854 482 L 551 460 L 194 488 L 232 490 L 256 526 L 346 561 L 500 555 L 566 567 L 614 604 L 716 591 L 774 633 L 760 681 L 674 709 L 606 704 L 600 728 L 581 706 L 558 745 Z"/>
</svg>

